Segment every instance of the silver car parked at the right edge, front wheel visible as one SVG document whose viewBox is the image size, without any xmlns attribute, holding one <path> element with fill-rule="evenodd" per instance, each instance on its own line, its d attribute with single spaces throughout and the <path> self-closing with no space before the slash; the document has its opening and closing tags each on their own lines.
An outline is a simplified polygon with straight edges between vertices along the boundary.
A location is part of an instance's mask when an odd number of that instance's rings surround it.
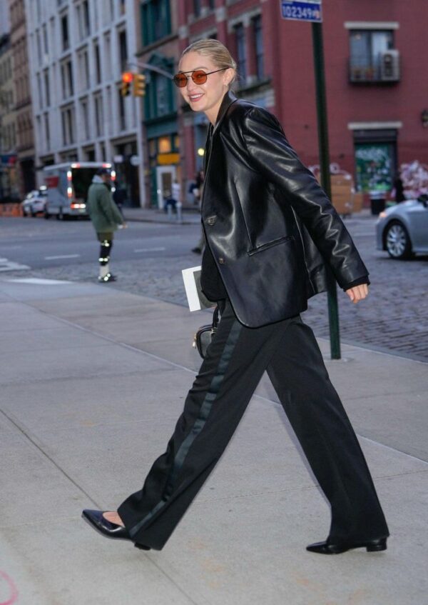
<svg viewBox="0 0 428 605">
<path fill-rule="evenodd" d="M 409 259 L 417 252 L 428 254 L 428 195 L 381 212 L 376 223 L 376 244 L 392 259 Z"/>
</svg>

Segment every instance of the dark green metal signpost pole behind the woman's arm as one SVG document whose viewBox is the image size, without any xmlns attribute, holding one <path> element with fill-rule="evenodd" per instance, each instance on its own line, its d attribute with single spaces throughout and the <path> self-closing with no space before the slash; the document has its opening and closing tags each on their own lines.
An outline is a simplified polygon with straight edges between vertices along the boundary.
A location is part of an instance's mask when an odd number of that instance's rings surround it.
<svg viewBox="0 0 428 605">
<path fill-rule="evenodd" d="M 322 46 L 322 23 L 312 23 L 312 45 L 314 51 L 315 89 L 317 94 L 318 143 L 320 146 L 321 184 L 331 199 L 330 154 L 328 149 L 327 98 L 325 94 L 324 50 Z M 330 269 L 327 269 L 327 301 L 330 323 L 330 352 L 332 359 L 340 359 L 339 307 L 337 286 Z"/>
</svg>

